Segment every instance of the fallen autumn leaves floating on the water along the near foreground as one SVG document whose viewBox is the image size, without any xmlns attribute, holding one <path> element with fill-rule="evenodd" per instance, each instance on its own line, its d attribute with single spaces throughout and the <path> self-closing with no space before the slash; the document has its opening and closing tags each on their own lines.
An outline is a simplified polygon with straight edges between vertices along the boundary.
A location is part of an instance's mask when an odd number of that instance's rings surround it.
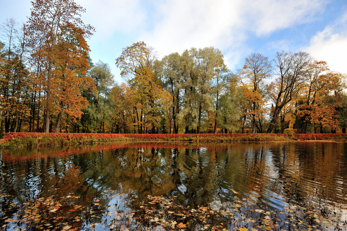
<svg viewBox="0 0 347 231">
<path fill-rule="evenodd" d="M 16 201 L 0 194 L 2 230 L 346 230 L 342 217 L 347 207 L 313 202 L 283 206 L 279 210 L 259 208 L 247 198 L 234 202 L 184 206 L 175 196 L 119 194 L 105 190 L 87 206 L 79 197 L 34 197 Z M 15 202 L 14 202 L 15 201 Z M 114 202 L 110 204 L 110 202 Z"/>
</svg>

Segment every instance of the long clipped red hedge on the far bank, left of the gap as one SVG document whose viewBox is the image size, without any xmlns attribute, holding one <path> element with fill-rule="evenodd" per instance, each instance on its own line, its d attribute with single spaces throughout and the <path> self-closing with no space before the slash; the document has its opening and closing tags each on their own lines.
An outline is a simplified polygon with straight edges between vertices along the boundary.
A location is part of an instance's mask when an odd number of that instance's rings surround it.
<svg viewBox="0 0 347 231">
<path fill-rule="evenodd" d="M 51 137 L 51 138 L 63 138 L 65 140 L 75 140 L 83 138 L 96 138 L 96 139 L 109 139 L 109 138 L 119 138 L 119 137 L 129 137 L 136 139 L 170 139 L 170 138 L 189 138 L 189 137 L 237 137 L 237 136 L 283 136 L 283 134 L 101 134 L 101 133 L 36 133 L 36 132 L 9 132 L 4 135 L 4 141 L 8 142 L 14 138 L 26 138 L 32 137 L 40 139 L 41 137 Z"/>
</svg>

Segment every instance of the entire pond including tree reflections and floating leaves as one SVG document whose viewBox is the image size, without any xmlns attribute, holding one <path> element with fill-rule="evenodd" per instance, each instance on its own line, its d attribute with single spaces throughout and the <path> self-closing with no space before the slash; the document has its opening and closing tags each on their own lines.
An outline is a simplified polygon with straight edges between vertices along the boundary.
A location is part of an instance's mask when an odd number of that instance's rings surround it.
<svg viewBox="0 0 347 231">
<path fill-rule="evenodd" d="M 347 143 L 0 150 L 3 230 L 346 228 Z"/>
</svg>

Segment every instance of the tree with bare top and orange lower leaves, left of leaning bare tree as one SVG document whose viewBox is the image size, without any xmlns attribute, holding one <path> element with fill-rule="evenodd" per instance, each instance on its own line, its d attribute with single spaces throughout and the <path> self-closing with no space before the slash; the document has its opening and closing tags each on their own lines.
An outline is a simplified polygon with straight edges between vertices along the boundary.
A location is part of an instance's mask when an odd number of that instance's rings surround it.
<svg viewBox="0 0 347 231">
<path fill-rule="evenodd" d="M 265 109 L 265 101 L 260 90 L 264 80 L 272 74 L 272 66 L 268 57 L 260 53 L 252 53 L 245 59 L 245 65 L 238 70 L 238 76 L 242 84 L 244 98 L 248 102 L 245 108 L 245 115 L 252 117 L 252 133 L 256 133 L 257 119 L 262 117 Z"/>
</svg>

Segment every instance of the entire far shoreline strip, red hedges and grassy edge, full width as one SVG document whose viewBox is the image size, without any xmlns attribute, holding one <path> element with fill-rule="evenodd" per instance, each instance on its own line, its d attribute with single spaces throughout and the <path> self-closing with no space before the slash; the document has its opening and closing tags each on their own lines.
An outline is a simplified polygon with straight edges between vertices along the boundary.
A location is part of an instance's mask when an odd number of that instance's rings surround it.
<svg viewBox="0 0 347 231">
<path fill-rule="evenodd" d="M 346 142 L 347 134 L 100 134 L 100 133 L 6 133 L 0 148 L 42 147 L 70 144 L 118 142 L 259 143 L 259 142 Z"/>
</svg>

